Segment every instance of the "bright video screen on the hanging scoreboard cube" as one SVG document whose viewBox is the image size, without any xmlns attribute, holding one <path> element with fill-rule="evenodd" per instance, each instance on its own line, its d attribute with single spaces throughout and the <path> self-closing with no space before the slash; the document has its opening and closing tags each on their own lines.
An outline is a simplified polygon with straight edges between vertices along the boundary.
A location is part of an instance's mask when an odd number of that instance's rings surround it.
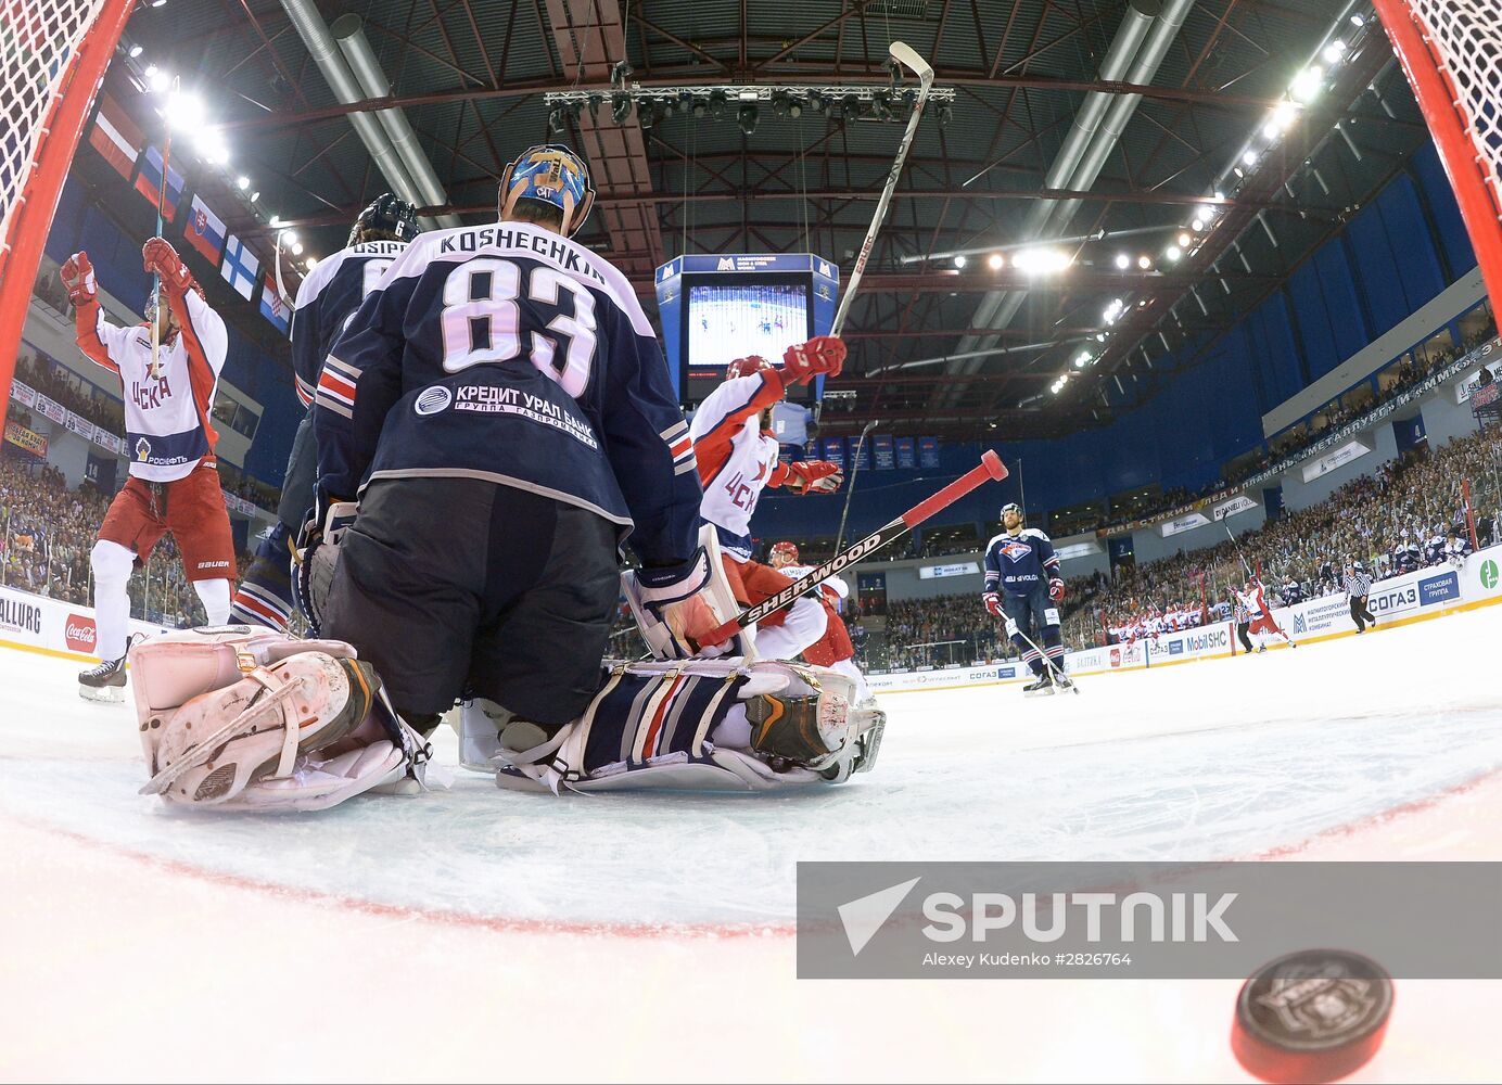
<svg viewBox="0 0 1502 1085">
<path fill-rule="evenodd" d="M 783 353 L 808 339 L 808 285 L 691 285 L 686 323 L 689 371 L 722 369 L 748 354 L 781 366 Z"/>
</svg>

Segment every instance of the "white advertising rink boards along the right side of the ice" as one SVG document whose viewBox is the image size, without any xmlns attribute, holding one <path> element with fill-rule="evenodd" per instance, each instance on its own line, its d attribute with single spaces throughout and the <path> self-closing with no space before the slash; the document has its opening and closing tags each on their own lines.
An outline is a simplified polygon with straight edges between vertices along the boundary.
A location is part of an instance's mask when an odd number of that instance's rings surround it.
<svg viewBox="0 0 1502 1085">
<path fill-rule="evenodd" d="M 1434 566 L 1380 581 L 1371 585 L 1367 608 L 1382 627 L 1425 621 L 1485 606 L 1499 599 L 1502 599 L 1502 546 L 1490 546 L 1472 554 L 1463 566 Z M 1350 603 L 1344 593 L 1311 599 L 1296 606 L 1278 606 L 1274 608 L 1272 617 L 1299 644 L 1355 636 L 1356 633 L 1356 623 L 1350 620 Z M 1157 641 L 1071 651 L 1065 656 L 1065 671 L 1081 675 L 1140 671 L 1149 666 L 1172 666 L 1235 654 L 1244 654 L 1236 641 L 1236 627 L 1229 621 L 1218 621 L 1182 633 L 1166 633 Z M 901 693 L 919 689 L 990 686 L 1030 678 L 1032 674 L 1026 666 L 1017 660 L 1008 660 L 984 666 L 871 674 L 867 675 L 867 686 L 877 693 Z"/>
</svg>

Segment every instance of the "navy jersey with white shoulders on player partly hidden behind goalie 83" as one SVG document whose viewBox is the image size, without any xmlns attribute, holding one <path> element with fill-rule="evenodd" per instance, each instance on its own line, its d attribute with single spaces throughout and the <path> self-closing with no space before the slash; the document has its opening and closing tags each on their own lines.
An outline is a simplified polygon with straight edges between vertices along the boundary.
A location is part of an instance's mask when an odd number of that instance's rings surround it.
<svg viewBox="0 0 1502 1085">
<path fill-rule="evenodd" d="M 333 348 L 333 341 L 406 249 L 406 242 L 351 245 L 320 263 L 302 281 L 291 314 L 291 368 L 303 407 L 312 404 L 318 377 L 323 375 L 323 359 Z"/>
</svg>

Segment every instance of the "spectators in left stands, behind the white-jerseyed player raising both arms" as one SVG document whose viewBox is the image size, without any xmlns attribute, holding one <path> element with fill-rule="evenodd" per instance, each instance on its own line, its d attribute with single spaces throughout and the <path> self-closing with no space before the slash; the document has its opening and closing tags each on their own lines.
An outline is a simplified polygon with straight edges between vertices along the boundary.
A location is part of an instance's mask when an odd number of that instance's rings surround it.
<svg viewBox="0 0 1502 1085">
<path fill-rule="evenodd" d="M 0 455 L 0 584 L 87 605 L 89 551 L 108 507 L 92 483 L 69 489 L 57 468 Z M 240 572 L 249 561 L 239 557 Z M 131 617 L 176 629 L 206 621 L 171 536 L 131 578 Z"/>
</svg>

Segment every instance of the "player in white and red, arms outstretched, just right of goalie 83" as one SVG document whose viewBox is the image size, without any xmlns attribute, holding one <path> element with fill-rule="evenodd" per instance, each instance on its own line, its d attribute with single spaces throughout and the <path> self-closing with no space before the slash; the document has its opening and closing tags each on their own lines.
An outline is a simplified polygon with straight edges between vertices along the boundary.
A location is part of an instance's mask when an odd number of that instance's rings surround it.
<svg viewBox="0 0 1502 1085">
<path fill-rule="evenodd" d="M 709 393 L 689 426 L 698 477 L 704 486 L 700 513 L 719 536 L 725 576 L 736 602 L 751 606 L 787 587 L 787 578 L 771 566 L 751 560 L 751 515 L 762 489 L 786 486 L 798 494 L 834 494 L 844 474 L 837 464 L 778 459 L 771 431 L 772 408 L 787 389 L 819 374 L 837 375 L 846 345 L 834 336 L 817 336 L 789 347 L 784 368 L 766 359 L 736 359 L 725 366 L 725 383 Z M 787 609 L 757 623 L 756 650 L 768 659 L 796 659 L 825 635 L 825 609 L 802 597 Z"/>
</svg>

